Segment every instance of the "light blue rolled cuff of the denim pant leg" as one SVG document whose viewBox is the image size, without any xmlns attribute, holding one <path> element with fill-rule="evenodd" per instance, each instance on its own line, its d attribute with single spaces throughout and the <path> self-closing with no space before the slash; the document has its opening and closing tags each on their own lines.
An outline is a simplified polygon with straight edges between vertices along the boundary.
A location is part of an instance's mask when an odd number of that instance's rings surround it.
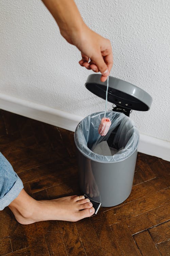
<svg viewBox="0 0 170 256">
<path fill-rule="evenodd" d="M 0 211 L 8 206 L 21 192 L 23 183 L 18 175 L 15 173 L 17 180 L 15 181 L 12 188 L 0 199 Z"/>
</svg>

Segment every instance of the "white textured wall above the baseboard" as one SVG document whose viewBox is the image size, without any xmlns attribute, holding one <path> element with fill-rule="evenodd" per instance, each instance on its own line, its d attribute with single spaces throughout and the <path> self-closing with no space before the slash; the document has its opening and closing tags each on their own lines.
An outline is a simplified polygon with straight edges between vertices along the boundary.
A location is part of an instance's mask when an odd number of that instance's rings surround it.
<svg viewBox="0 0 170 256">
<path fill-rule="evenodd" d="M 139 131 L 170 141 L 170 1 L 76 3 L 86 24 L 112 42 L 111 75 L 153 97 L 150 111 L 131 114 Z M 1 93 L 81 116 L 104 110 L 104 101 L 84 87 L 92 72 L 80 59 L 40 0 L 0 1 Z"/>
</svg>

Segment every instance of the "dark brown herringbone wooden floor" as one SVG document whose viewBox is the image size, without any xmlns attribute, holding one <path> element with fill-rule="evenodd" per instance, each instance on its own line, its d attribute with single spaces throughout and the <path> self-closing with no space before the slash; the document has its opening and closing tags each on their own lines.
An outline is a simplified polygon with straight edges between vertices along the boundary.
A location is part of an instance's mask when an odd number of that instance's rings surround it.
<svg viewBox="0 0 170 256">
<path fill-rule="evenodd" d="M 73 132 L 0 112 L 0 151 L 35 199 L 79 194 Z M 17 223 L 0 211 L 0 255 L 170 255 L 170 162 L 138 153 L 130 197 L 76 223 Z"/>
</svg>

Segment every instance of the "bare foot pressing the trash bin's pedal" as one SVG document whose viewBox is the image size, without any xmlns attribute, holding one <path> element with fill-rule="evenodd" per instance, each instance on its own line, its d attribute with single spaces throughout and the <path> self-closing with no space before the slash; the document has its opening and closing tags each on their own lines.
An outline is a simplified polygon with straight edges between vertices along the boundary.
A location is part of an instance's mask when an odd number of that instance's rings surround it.
<svg viewBox="0 0 170 256">
<path fill-rule="evenodd" d="M 48 220 L 75 222 L 90 217 L 95 212 L 90 200 L 88 198 L 85 199 L 84 196 L 69 196 L 37 201 L 23 189 L 8 207 L 20 224 Z"/>
</svg>

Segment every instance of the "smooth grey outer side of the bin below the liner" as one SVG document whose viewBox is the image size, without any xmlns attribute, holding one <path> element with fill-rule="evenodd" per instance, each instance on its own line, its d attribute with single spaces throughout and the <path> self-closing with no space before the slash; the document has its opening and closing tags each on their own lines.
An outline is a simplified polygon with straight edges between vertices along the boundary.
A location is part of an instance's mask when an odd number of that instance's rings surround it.
<svg viewBox="0 0 170 256">
<path fill-rule="evenodd" d="M 131 194 L 136 158 L 137 150 L 125 160 L 102 163 L 88 159 L 78 150 L 81 192 L 103 207 L 122 203 Z"/>
</svg>

